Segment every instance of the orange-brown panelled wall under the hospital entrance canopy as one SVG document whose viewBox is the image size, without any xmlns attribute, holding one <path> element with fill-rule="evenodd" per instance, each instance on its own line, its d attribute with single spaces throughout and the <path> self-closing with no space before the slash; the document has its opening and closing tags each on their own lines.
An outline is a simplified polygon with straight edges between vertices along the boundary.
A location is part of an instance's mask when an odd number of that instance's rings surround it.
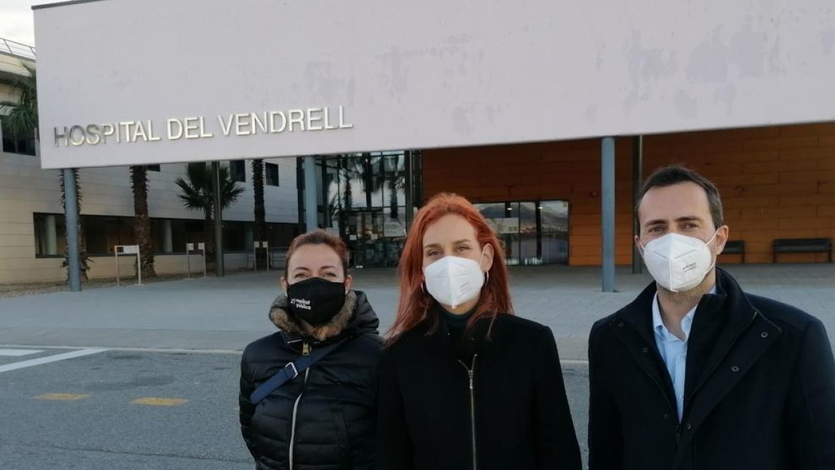
<svg viewBox="0 0 835 470">
<path fill-rule="evenodd" d="M 719 186 L 731 239 L 746 242 L 746 263 L 770 263 L 775 238 L 835 238 L 835 123 L 650 135 L 644 145 L 645 176 L 684 163 Z M 618 139 L 616 152 L 615 258 L 628 264 L 630 139 Z M 600 140 L 424 151 L 424 196 L 442 191 L 473 202 L 568 200 L 569 263 L 600 263 Z M 824 258 L 795 254 L 779 260 Z"/>
</svg>

